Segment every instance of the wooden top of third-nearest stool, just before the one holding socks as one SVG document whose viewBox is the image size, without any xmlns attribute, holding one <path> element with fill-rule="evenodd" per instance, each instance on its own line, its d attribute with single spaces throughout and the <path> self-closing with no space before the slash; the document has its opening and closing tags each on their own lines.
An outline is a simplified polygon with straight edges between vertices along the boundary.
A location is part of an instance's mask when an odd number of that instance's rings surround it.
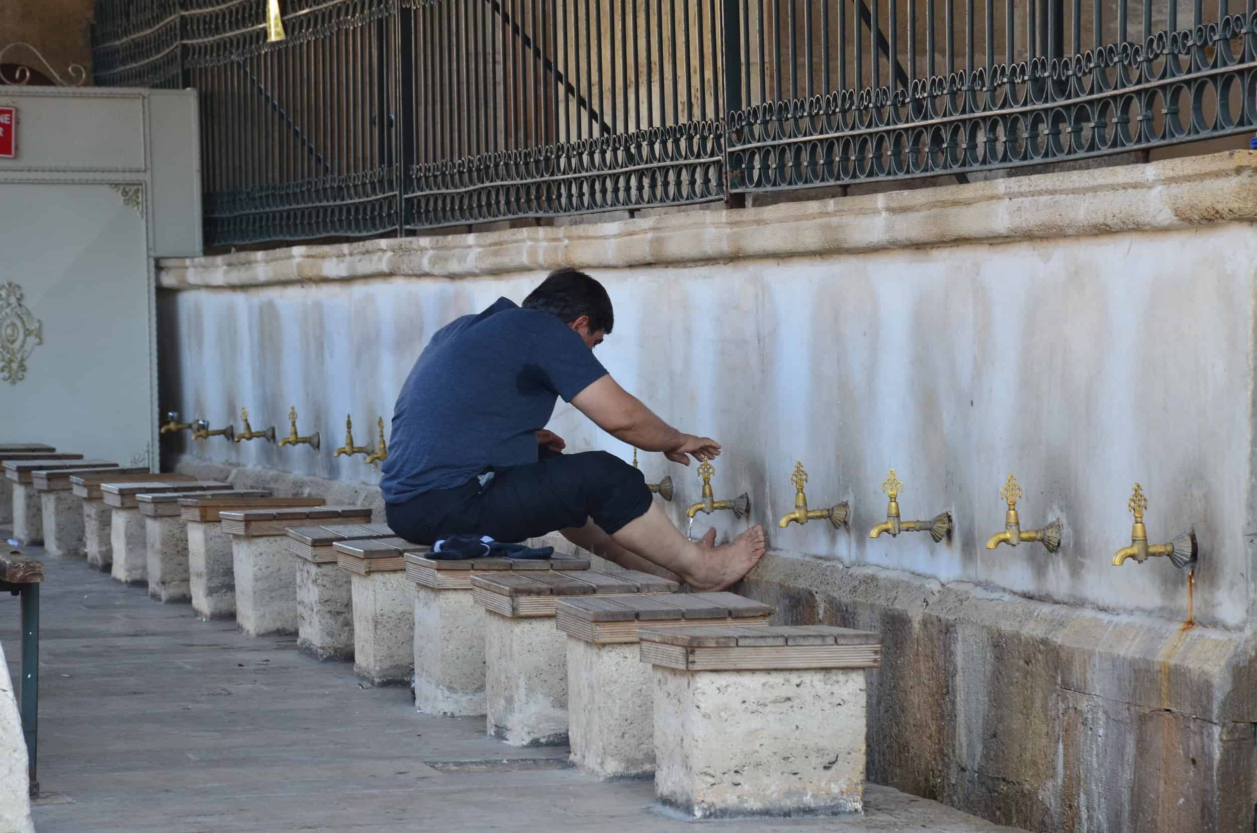
<svg viewBox="0 0 1257 833">
<path fill-rule="evenodd" d="M 558 596 L 676 593 L 679 589 L 676 581 L 637 570 L 530 570 L 471 578 L 471 598 L 475 603 L 510 618 L 553 617 Z"/>
</svg>

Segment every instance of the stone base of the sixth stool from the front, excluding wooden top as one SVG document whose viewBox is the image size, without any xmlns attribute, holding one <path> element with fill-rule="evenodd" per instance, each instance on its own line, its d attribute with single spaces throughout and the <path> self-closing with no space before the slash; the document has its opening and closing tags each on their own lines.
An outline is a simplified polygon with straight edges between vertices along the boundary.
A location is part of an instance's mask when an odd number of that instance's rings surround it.
<svg viewBox="0 0 1257 833">
<path fill-rule="evenodd" d="M 336 561 L 297 560 L 297 649 L 353 659 L 353 583 Z"/>
</svg>

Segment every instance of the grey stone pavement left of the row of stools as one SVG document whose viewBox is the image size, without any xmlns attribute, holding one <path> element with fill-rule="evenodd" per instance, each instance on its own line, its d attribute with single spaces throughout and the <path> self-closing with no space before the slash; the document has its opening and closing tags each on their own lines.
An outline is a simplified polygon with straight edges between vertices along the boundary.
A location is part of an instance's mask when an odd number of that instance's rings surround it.
<svg viewBox="0 0 1257 833">
<path fill-rule="evenodd" d="M 1012 830 L 875 785 L 862 817 L 690 822 L 657 808 L 650 781 L 595 781 L 566 747 L 421 716 L 406 688 L 363 688 L 352 663 L 300 656 L 294 638 L 249 638 L 30 554 L 48 573 L 39 833 Z M 0 639 L 16 674 L 15 601 L 0 599 Z"/>
</svg>

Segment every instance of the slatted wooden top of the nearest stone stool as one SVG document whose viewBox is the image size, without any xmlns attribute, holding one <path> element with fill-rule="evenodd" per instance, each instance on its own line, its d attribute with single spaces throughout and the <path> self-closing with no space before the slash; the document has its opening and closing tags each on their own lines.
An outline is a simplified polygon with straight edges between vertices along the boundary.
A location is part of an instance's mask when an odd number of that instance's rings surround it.
<svg viewBox="0 0 1257 833">
<path fill-rule="evenodd" d="M 877 668 L 881 635 L 830 625 L 641 628 L 641 661 L 681 671 Z"/>
</svg>

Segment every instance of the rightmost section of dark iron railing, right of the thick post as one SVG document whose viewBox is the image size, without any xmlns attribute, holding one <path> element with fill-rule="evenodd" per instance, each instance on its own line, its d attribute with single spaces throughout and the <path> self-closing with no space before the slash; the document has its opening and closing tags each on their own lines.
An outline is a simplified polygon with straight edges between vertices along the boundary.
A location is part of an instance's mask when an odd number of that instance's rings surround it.
<svg viewBox="0 0 1257 833">
<path fill-rule="evenodd" d="M 964 174 L 1253 130 L 1227 0 L 738 0 L 730 191 Z M 768 6 L 766 14 L 766 5 Z M 1187 6 L 1187 4 L 1184 4 Z"/>
</svg>

